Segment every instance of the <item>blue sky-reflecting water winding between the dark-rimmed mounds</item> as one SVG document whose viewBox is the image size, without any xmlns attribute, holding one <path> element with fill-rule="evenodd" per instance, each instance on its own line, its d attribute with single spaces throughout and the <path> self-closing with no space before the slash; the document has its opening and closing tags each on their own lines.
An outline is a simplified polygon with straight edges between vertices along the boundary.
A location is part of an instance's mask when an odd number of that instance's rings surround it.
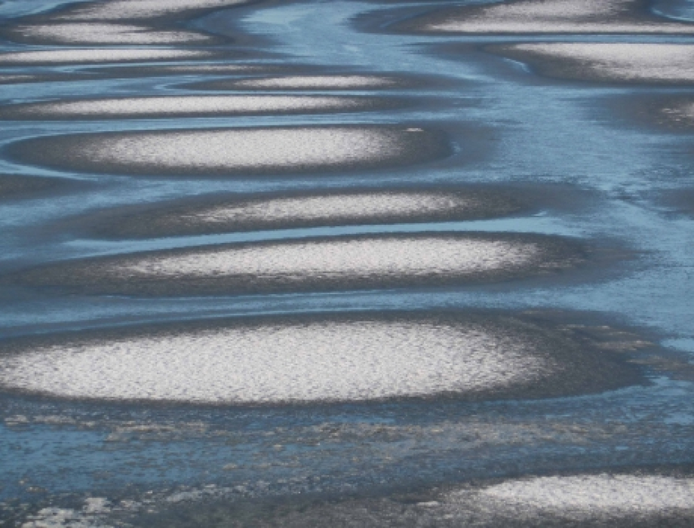
<svg viewBox="0 0 694 528">
<path fill-rule="evenodd" d="M 33 3 L 45 5 L 45 1 Z M 10 5 L 12 4 L 12 5 Z M 0 15 L 30 9 L 30 3 L 12 1 L 0 6 Z M 672 2 L 672 16 L 689 17 L 685 4 Z M 615 124 L 604 110 L 607 96 L 628 97 L 641 89 L 608 88 L 600 85 L 555 83 L 529 76 L 500 58 L 489 59 L 486 67 L 478 55 L 460 54 L 448 60 L 412 44 L 472 42 L 466 39 L 431 39 L 400 35 L 359 33 L 350 20 L 365 10 L 383 6 L 356 2 L 293 4 L 259 8 L 245 16 L 241 25 L 249 33 L 272 35 L 296 62 L 316 65 L 352 65 L 374 71 L 404 71 L 440 74 L 460 83 L 459 87 L 409 90 L 408 95 L 425 95 L 434 108 L 421 107 L 398 112 L 373 112 L 366 116 L 260 117 L 235 119 L 187 119 L 176 126 L 247 126 L 270 124 L 329 124 L 349 122 L 425 121 L 436 124 L 464 121 L 484 124 L 491 130 L 493 148 L 482 160 L 440 167 L 412 167 L 388 173 L 371 171 L 350 176 L 307 178 L 237 178 L 234 180 L 171 181 L 156 178 L 86 177 L 85 188 L 56 198 L 8 201 L 0 205 L 4 226 L 0 232 L 5 269 L 18 263 L 44 259 L 80 257 L 130 250 L 181 247 L 187 244 L 343 234 L 346 232 L 407 232 L 439 230 L 511 230 L 550 234 L 581 235 L 593 241 L 609 237 L 625 241 L 638 253 L 638 261 L 610 271 L 598 282 L 523 286 L 502 284 L 493 288 L 474 287 L 448 291 L 388 291 L 239 298 L 192 298 L 180 300 L 134 300 L 128 298 L 52 297 L 42 293 L 0 292 L 0 334 L 12 335 L 120 324 L 135 321 L 165 321 L 198 316 L 312 312 L 341 309 L 414 309 L 425 307 L 492 307 L 526 309 L 544 307 L 605 312 L 628 325 L 643 326 L 666 346 L 694 353 L 691 321 L 694 307 L 694 273 L 691 259 L 691 219 L 666 214 L 655 201 L 655 192 L 686 187 L 691 181 L 691 138 L 663 135 L 636 124 Z M 662 6 L 658 6 L 663 10 Z M 684 13 L 684 14 L 683 14 Z M 230 17 L 230 15 L 228 15 Z M 209 24 L 222 24 L 224 15 L 213 15 Z M 203 22 L 203 25 L 206 22 Z M 604 38 L 604 37 L 603 37 Z M 625 37 L 611 40 L 620 41 Z M 505 41 L 505 39 L 499 39 Z M 532 40 L 532 39 L 530 39 Z M 586 39 L 590 40 L 590 39 Z M 594 40 L 594 39 L 593 39 Z M 666 40 L 653 38 L 652 41 Z M 320 45 L 316 45 L 320 42 Z M 450 58 L 450 56 L 449 56 Z M 466 60 L 469 59 L 469 60 Z M 47 96 L 90 96 L 183 94 L 175 83 L 188 76 L 151 80 L 90 80 L 80 83 L 51 83 L 0 87 L 3 100 L 28 102 Z M 654 89 L 668 94 L 673 90 Z M 363 92 L 369 93 L 369 92 Z M 387 91 L 381 93 L 389 93 Z M 393 92 L 395 93 L 395 92 Z M 436 105 L 437 98 L 448 98 Z M 151 130 L 172 126 L 162 121 L 119 123 L 22 124 L 8 122 L 0 130 L 3 144 L 18 137 L 46 133 L 89 130 Z M 453 136 L 462 146 L 465 139 Z M 7 160 L 0 170 L 56 175 L 52 171 L 22 167 Z M 40 239 L 26 239 L 22 227 L 50 224 L 68 214 L 91 208 L 164 198 L 192 196 L 203 192 L 271 191 L 282 189 L 333 188 L 387 184 L 450 182 L 564 182 L 597 192 L 593 207 L 565 212 L 558 207 L 543 216 L 433 225 L 388 227 L 314 228 L 257 232 L 253 234 L 181 237 L 142 242 L 102 242 L 71 239 L 46 232 Z M 561 191 L 557 191 L 561 192 Z M 532 402 L 462 404 L 439 402 L 339 406 L 334 408 L 244 409 L 205 411 L 198 416 L 185 409 L 99 409 L 98 406 L 11 401 L 5 416 L 17 414 L 75 414 L 92 417 L 92 429 L 78 425 L 52 427 L 0 425 L 0 459 L 6 482 L 0 496 L 12 496 L 19 479 L 51 491 L 117 488 L 130 482 L 143 486 L 164 483 L 236 483 L 257 479 L 260 464 L 265 480 L 285 478 L 298 472 L 324 475 L 326 487 L 345 482 L 403 482 L 421 479 L 437 482 L 461 475 L 490 475 L 509 468 L 551 470 L 566 467 L 691 461 L 694 448 L 694 414 L 690 382 L 666 378 L 652 386 L 635 387 L 602 395 Z M 236 434 L 235 438 L 214 434 L 182 433 L 179 438 L 122 439 L 107 441 L 112 425 L 103 413 L 152 423 L 201 420 L 210 430 Z M 88 421 L 81 418 L 79 421 Z M 364 427 L 351 441 L 344 434 L 330 439 L 321 424 Z M 384 438 L 367 425 L 398 427 Z M 280 434 L 262 436 L 278 427 Z M 299 429 L 314 427 L 301 436 Z M 434 432 L 440 430 L 441 432 Z M 298 438 L 301 436 L 301 438 Z M 268 438 L 271 438 L 269 440 Z M 493 441 L 489 438 L 493 438 Z M 316 448 L 315 443 L 322 442 Z M 284 450 L 272 445 L 284 444 Z M 308 449 L 307 446 L 313 447 Z M 416 446 L 420 450 L 413 451 Z M 413 457 L 412 453 L 417 456 Z M 18 456 L 21 455 L 21 456 Z M 297 457 L 300 470 L 287 466 Z M 362 462 L 346 465 L 353 457 Z M 387 459 L 386 457 L 391 457 Z M 378 461 L 378 462 L 377 462 Z M 244 466 L 222 470 L 228 463 Z M 349 467 L 346 467 L 349 466 Z"/>
</svg>

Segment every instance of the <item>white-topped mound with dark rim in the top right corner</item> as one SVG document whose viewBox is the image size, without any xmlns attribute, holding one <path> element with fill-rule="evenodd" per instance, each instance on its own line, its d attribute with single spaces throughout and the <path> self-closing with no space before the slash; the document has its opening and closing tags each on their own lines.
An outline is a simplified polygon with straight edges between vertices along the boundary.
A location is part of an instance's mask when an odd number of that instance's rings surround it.
<svg viewBox="0 0 694 528">
<path fill-rule="evenodd" d="M 658 17 L 646 0 L 517 0 L 434 10 L 403 31 L 460 34 L 691 34 L 694 24 Z"/>
</svg>

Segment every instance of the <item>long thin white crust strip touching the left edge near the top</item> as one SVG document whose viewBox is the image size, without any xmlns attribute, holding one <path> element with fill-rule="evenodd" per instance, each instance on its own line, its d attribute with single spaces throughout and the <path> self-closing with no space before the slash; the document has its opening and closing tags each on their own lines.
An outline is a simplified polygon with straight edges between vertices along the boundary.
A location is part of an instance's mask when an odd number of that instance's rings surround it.
<svg viewBox="0 0 694 528">
<path fill-rule="evenodd" d="M 208 57 L 209 51 L 193 49 L 51 49 L 0 53 L 0 62 L 119 62 L 133 60 L 170 60 Z"/>
</svg>

